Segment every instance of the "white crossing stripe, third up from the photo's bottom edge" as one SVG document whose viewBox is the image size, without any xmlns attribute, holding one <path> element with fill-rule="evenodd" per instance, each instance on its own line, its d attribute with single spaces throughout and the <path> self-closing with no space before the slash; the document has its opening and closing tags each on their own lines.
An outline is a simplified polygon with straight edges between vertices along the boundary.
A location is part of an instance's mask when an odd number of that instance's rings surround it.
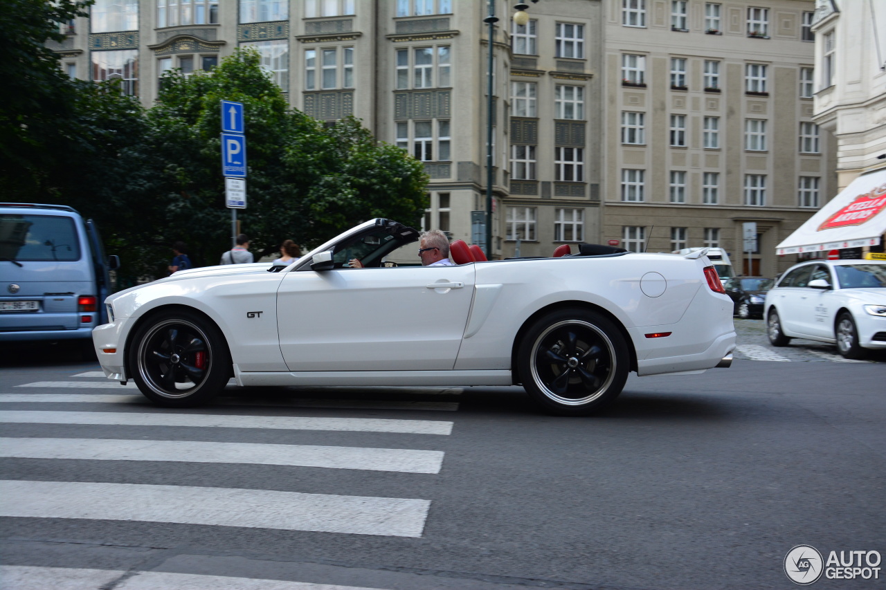
<svg viewBox="0 0 886 590">
<path fill-rule="evenodd" d="M 442 451 L 405 448 L 128 439 L 0 438 L 0 457 L 248 463 L 400 473 L 439 473 L 443 463 Z"/>
</svg>

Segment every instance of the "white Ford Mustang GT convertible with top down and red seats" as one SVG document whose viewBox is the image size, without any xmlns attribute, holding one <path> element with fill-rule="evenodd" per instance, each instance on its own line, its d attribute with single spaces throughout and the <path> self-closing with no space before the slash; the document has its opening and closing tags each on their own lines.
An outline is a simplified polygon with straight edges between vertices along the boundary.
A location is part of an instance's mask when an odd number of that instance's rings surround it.
<svg viewBox="0 0 886 590">
<path fill-rule="evenodd" d="M 195 268 L 107 298 L 93 332 L 108 378 L 162 406 L 240 385 L 523 384 L 585 415 L 638 375 L 728 367 L 733 302 L 703 251 L 579 245 L 558 258 L 421 267 L 419 234 L 367 221 L 288 267 Z M 601 253 L 604 252 L 604 253 Z M 347 268 L 358 258 L 366 268 Z"/>
</svg>

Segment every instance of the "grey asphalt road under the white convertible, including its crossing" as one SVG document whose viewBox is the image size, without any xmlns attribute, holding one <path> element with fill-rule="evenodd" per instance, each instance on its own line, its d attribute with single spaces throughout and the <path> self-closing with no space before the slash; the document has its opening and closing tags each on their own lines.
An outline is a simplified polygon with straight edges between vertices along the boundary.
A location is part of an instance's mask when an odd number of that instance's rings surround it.
<svg viewBox="0 0 886 590">
<path fill-rule="evenodd" d="M 744 334 L 754 324 L 736 324 L 740 344 L 754 345 Z M 791 547 L 886 554 L 882 363 L 804 346 L 775 350 L 808 358 L 631 377 L 589 418 L 540 415 L 518 388 L 235 389 L 206 408 L 161 410 L 103 387 L 76 350 L 8 353 L 0 469 L 19 495 L 0 499 L 0 586 L 62 587 L 48 581 L 58 575 L 106 590 L 795 587 L 782 565 Z M 268 428 L 288 419 L 411 431 Z M 144 458 L 182 443 L 187 453 Z M 210 446 L 199 461 L 197 443 Z M 259 464 L 242 458 L 244 444 L 262 457 L 278 446 L 421 453 L 387 467 L 360 454 L 344 468 L 324 464 L 329 455 Z M 114 459 L 124 447 L 129 458 Z M 284 522 L 304 494 L 319 504 Z M 352 514 L 343 496 L 364 500 Z M 412 503 L 377 508 L 379 498 Z M 35 513 L 12 516 L 26 505 Z M 249 521 L 268 506 L 285 508 Z M 363 532 L 345 531 L 366 519 Z M 416 523 L 420 536 L 408 536 Z M 812 587 L 882 588 L 882 578 Z"/>
</svg>

